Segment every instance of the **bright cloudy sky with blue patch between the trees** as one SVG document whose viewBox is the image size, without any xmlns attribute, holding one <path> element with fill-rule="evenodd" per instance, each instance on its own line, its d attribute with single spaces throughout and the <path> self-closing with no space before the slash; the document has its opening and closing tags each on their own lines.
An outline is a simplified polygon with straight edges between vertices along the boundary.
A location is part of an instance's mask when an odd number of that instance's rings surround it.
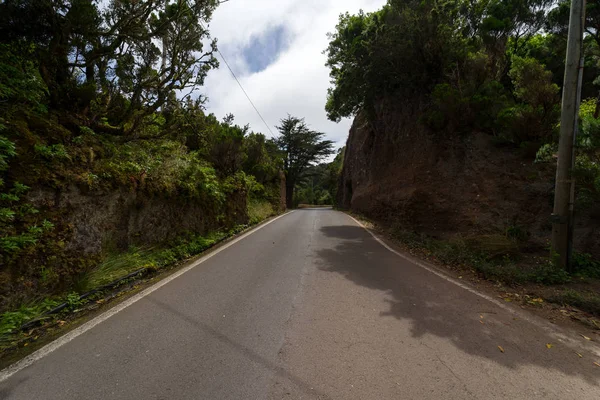
<svg viewBox="0 0 600 400">
<path fill-rule="evenodd" d="M 312 129 L 343 146 L 351 121 L 339 124 L 325 115 L 329 70 L 322 51 L 327 32 L 342 12 L 374 11 L 385 0 L 229 0 L 210 23 L 219 49 L 271 130 L 288 113 L 306 118 Z M 239 125 L 270 133 L 225 64 L 211 71 L 203 92 L 209 112 L 235 115 Z"/>
</svg>

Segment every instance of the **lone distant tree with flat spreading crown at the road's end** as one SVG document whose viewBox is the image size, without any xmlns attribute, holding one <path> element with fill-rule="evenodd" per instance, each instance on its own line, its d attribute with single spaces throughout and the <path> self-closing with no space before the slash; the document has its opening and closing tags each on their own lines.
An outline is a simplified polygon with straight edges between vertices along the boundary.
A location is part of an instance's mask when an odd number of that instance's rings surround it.
<svg viewBox="0 0 600 400">
<path fill-rule="evenodd" d="M 323 140 L 325 133 L 309 129 L 303 118 L 288 115 L 280 123 L 277 127 L 280 135 L 275 141 L 283 153 L 285 202 L 286 206 L 291 208 L 296 184 L 303 178 L 309 166 L 333 154 L 333 142 Z"/>
</svg>

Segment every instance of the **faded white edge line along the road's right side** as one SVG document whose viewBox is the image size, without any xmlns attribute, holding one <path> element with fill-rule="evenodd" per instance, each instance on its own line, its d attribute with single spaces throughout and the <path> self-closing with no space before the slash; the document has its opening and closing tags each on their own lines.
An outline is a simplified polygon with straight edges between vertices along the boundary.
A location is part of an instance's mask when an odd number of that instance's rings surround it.
<svg viewBox="0 0 600 400">
<path fill-rule="evenodd" d="M 429 266 L 429 265 L 422 263 L 412 257 L 408 257 L 407 255 L 402 254 L 401 252 L 390 247 L 387 243 L 385 243 L 382 239 L 380 239 L 377 235 L 375 235 L 375 233 L 373 233 L 369 228 L 364 226 L 362 224 L 362 222 L 360 222 L 359 220 L 357 220 L 356 218 L 354 218 L 353 216 L 351 216 L 349 214 L 346 214 L 346 213 L 343 213 L 343 214 L 350 217 L 354 222 L 356 222 L 358 224 L 358 226 L 360 226 L 361 228 L 363 228 L 364 230 L 369 232 L 371 234 L 371 236 L 373 237 L 373 239 L 375 239 L 377 242 L 379 242 L 379 244 L 381 244 L 387 250 L 396 254 L 398 257 L 401 257 L 404 260 L 406 260 L 412 264 L 415 264 L 423 269 L 426 269 L 427 271 L 431 272 L 432 274 L 435 274 L 448 282 L 454 283 L 455 285 L 460 286 L 461 288 L 465 289 L 466 291 L 468 291 L 470 293 L 473 293 L 476 296 L 479 296 L 487 301 L 494 303 L 495 305 L 497 305 L 498 307 L 502 308 L 505 311 L 508 311 L 509 313 L 518 315 L 519 318 L 521 318 L 522 320 L 525 320 L 525 321 L 537 326 L 538 328 L 544 330 L 548 335 L 555 337 L 560 342 L 563 342 L 563 343 L 570 345 L 571 347 L 575 347 L 577 349 L 584 348 L 587 351 L 600 357 L 600 347 L 596 346 L 595 344 L 592 344 L 592 343 L 589 343 L 586 341 L 575 340 L 575 339 L 571 338 L 571 335 L 569 334 L 569 332 L 567 332 L 566 330 L 562 329 L 561 327 L 559 327 L 557 325 L 553 325 L 542 318 L 525 314 L 523 312 L 520 312 L 519 310 L 515 310 L 514 308 L 509 307 L 508 305 L 502 303 L 501 301 L 498 301 L 497 299 L 495 299 L 491 296 L 488 296 L 485 293 L 481 293 L 478 290 L 474 289 L 473 287 L 471 287 L 463 282 L 457 281 L 456 279 L 449 277 L 448 275 L 439 271 L 435 267 Z"/>
</svg>

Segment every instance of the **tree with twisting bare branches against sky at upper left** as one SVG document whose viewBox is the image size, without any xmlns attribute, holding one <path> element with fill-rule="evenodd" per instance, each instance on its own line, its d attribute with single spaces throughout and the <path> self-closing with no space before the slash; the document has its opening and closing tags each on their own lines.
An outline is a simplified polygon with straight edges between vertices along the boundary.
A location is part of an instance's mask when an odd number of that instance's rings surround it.
<svg viewBox="0 0 600 400">
<path fill-rule="evenodd" d="M 0 41 L 35 49 L 51 107 L 78 125 L 134 134 L 176 92 L 202 85 L 216 41 L 208 21 L 217 0 L 5 0 Z M 101 121 L 111 108 L 119 113 Z"/>
</svg>

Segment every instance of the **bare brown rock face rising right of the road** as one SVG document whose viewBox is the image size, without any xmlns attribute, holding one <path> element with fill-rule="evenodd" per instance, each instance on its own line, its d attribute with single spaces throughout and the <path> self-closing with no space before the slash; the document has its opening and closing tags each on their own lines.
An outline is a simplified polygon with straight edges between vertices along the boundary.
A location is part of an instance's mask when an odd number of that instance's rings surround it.
<svg viewBox="0 0 600 400">
<path fill-rule="evenodd" d="M 355 118 L 338 204 L 402 228 L 448 238 L 520 229 L 546 248 L 555 166 L 490 135 L 444 137 L 420 121 L 422 107 L 380 104 L 373 123 Z M 528 154 L 529 153 L 529 154 Z M 600 212 L 578 215 L 575 248 L 600 256 Z"/>
</svg>

